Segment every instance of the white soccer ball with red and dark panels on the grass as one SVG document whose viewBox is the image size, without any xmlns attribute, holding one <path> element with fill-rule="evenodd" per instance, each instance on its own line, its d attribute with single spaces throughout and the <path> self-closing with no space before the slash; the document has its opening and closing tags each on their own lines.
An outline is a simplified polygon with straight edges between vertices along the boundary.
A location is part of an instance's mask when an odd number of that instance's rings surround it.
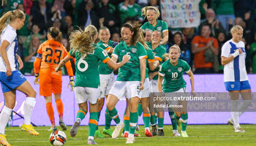
<svg viewBox="0 0 256 146">
<path fill-rule="evenodd" d="M 67 136 L 64 131 L 53 131 L 50 134 L 50 143 L 54 146 L 62 146 L 65 144 Z"/>
</svg>

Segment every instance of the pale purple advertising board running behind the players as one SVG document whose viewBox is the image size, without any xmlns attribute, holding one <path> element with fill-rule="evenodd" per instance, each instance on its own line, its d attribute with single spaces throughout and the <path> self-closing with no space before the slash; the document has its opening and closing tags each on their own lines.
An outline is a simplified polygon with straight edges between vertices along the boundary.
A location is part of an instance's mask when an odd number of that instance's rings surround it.
<svg viewBox="0 0 256 146">
<path fill-rule="evenodd" d="M 256 74 L 249 74 L 249 82 L 252 87 L 252 95 L 256 93 Z M 45 99 L 43 96 L 39 96 L 39 85 L 34 85 L 34 77 L 33 76 L 26 76 L 27 80 L 31 83 L 31 85 L 34 87 L 34 89 L 37 91 L 37 103 L 34 107 L 34 111 L 32 113 L 31 122 L 36 124 L 37 126 L 50 126 L 50 120 L 48 118 L 47 112 L 46 112 L 46 105 L 45 105 Z M 63 76 L 62 77 L 62 94 L 61 99 L 64 104 L 64 122 L 67 125 L 72 125 L 75 121 L 76 113 L 78 112 L 78 104 L 75 100 L 75 95 L 73 91 L 70 91 L 70 88 L 67 88 L 67 85 L 69 83 L 69 77 Z M 187 92 L 191 91 L 191 85 L 189 81 L 189 76 L 184 75 L 184 80 L 187 82 Z M 202 95 L 202 93 L 211 93 L 211 96 L 217 96 L 221 94 L 223 96 L 222 100 L 211 101 L 208 102 L 208 106 L 205 106 L 206 104 L 202 104 L 203 108 L 206 109 L 200 109 L 198 108 L 198 105 L 192 102 L 192 105 L 195 106 L 189 107 L 189 124 L 226 124 L 227 120 L 231 117 L 229 110 L 223 110 L 219 111 L 219 109 L 212 109 L 212 105 L 222 105 L 222 104 L 228 104 L 227 99 L 229 99 L 227 96 L 227 91 L 225 91 L 225 85 L 223 82 L 223 74 L 195 74 L 195 92 L 199 93 L 199 95 Z M 197 96 L 197 94 L 195 94 Z M 23 93 L 20 93 L 17 91 L 16 93 L 16 105 L 15 105 L 15 112 L 18 112 L 18 114 L 23 115 L 23 104 L 26 96 Z M 224 100 L 224 101 L 223 101 Z M 196 102 L 197 103 L 197 102 Z M 222 103 L 222 104 L 218 104 Z M 188 104 L 189 105 L 189 104 Z M 0 110 L 4 107 L 4 95 L 1 92 L 0 89 Z M 118 104 L 116 105 L 116 109 L 118 110 L 118 115 L 120 116 L 121 120 L 124 118 L 124 110 L 126 107 L 126 101 L 121 100 L 118 101 Z M 222 107 L 222 106 L 220 106 Z M 192 108 L 192 109 L 191 109 Z M 252 100 L 252 105 L 249 107 L 250 112 L 245 112 L 243 115 L 241 115 L 240 121 L 241 123 L 256 123 L 256 112 L 255 112 L 255 101 Z M 56 109 L 56 103 L 53 98 L 53 109 L 54 109 L 54 116 L 56 125 L 59 125 L 59 115 L 58 111 Z M 105 109 L 104 106 L 101 112 L 101 116 L 99 118 L 99 125 L 105 124 Z M 13 120 L 12 120 L 12 126 L 19 126 L 23 123 L 23 119 L 20 119 L 18 115 L 13 114 Z M 82 125 L 88 125 L 89 123 L 89 114 L 86 115 L 86 118 L 82 121 Z M 143 118 L 140 117 L 139 124 L 143 124 Z M 165 124 L 170 124 L 170 117 L 168 115 L 168 112 L 165 112 Z M 112 125 L 115 125 L 115 123 L 112 121 Z"/>
</svg>

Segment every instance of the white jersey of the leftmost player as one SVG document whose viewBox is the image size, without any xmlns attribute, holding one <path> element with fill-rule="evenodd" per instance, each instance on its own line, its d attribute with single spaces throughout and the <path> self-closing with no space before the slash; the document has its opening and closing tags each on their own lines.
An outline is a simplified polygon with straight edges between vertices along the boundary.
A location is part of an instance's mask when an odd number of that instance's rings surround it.
<svg viewBox="0 0 256 146">
<path fill-rule="evenodd" d="M 16 53 L 18 50 L 18 41 L 15 28 L 12 28 L 12 26 L 10 26 L 9 24 L 1 32 L 0 43 L 2 43 L 3 40 L 6 40 L 10 43 L 10 45 L 7 47 L 7 58 L 10 62 L 12 71 L 15 71 L 18 69 L 18 61 L 16 57 Z M 0 72 L 6 72 L 6 70 L 6 64 L 4 63 L 4 60 L 3 58 L 1 58 L 0 55 Z"/>
</svg>

